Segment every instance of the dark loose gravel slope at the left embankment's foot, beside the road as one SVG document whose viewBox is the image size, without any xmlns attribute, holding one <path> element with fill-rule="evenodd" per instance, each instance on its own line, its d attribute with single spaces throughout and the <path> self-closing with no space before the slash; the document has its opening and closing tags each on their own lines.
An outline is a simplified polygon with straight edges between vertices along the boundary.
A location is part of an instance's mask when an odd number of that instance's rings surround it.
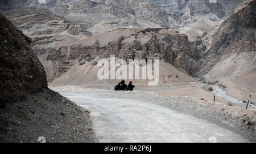
<svg viewBox="0 0 256 154">
<path fill-rule="evenodd" d="M 49 89 L 0 109 L 0 142 L 95 142 L 89 111 Z"/>
</svg>

